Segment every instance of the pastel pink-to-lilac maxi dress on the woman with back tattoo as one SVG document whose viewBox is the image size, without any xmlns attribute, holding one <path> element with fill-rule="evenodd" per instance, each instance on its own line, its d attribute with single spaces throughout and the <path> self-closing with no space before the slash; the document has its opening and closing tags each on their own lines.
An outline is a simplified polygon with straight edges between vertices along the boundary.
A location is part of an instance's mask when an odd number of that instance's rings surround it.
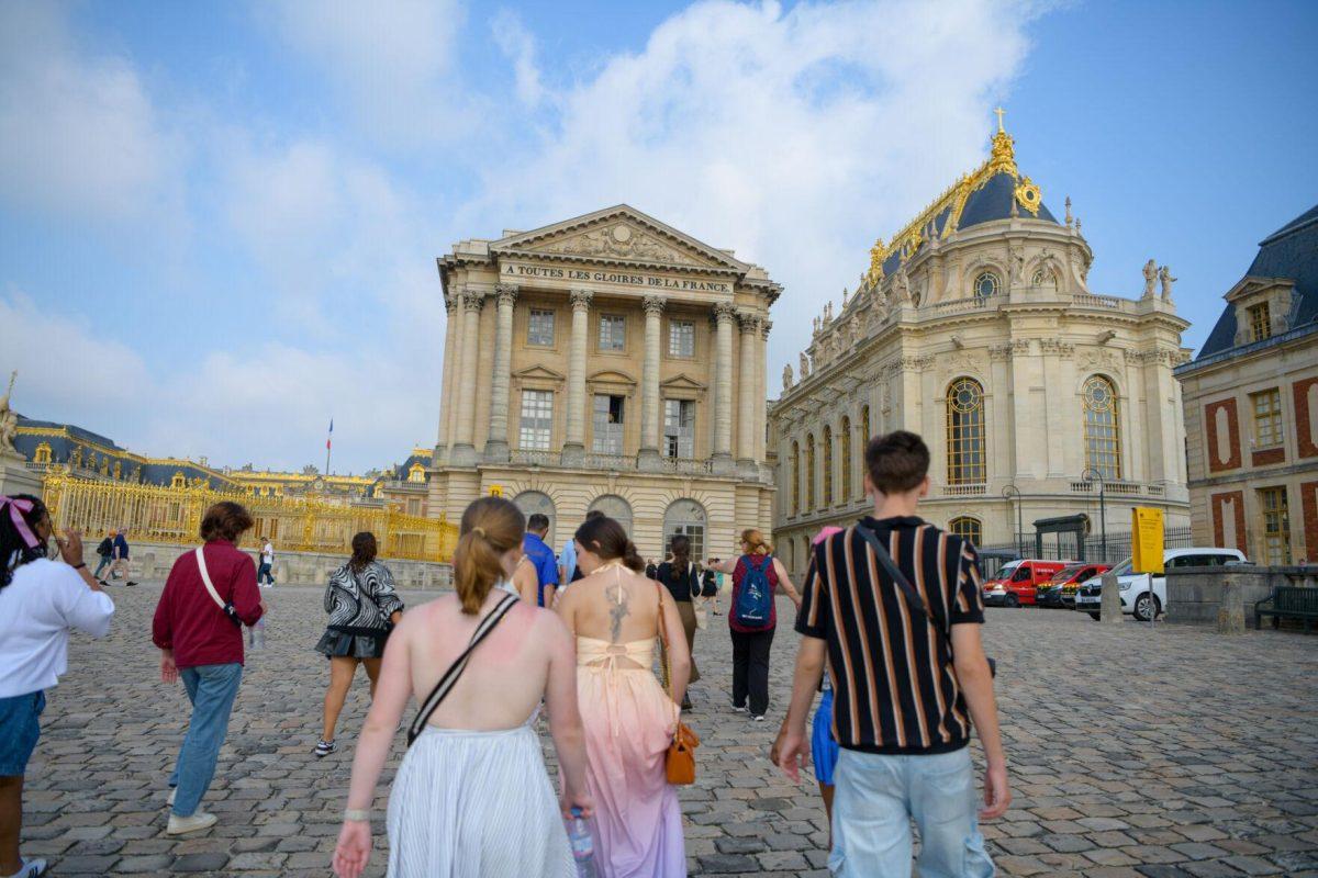
<svg viewBox="0 0 1318 878">
<path fill-rule="evenodd" d="M 601 878 L 687 874 L 681 811 L 664 770 L 677 706 L 651 671 L 655 640 L 577 637 L 577 699 Z"/>
</svg>

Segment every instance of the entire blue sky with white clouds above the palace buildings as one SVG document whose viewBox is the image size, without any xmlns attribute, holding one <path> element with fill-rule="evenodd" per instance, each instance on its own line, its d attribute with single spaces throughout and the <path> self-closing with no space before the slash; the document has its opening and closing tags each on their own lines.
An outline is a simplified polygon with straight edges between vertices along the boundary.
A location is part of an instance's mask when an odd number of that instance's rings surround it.
<svg viewBox="0 0 1318 878">
<path fill-rule="evenodd" d="M 786 286 L 770 373 L 986 153 L 1072 196 L 1097 292 L 1153 257 L 1202 342 L 1318 201 L 1311 3 L 0 0 L 0 369 L 152 454 L 434 442 L 434 259 L 619 201 Z"/>
</svg>

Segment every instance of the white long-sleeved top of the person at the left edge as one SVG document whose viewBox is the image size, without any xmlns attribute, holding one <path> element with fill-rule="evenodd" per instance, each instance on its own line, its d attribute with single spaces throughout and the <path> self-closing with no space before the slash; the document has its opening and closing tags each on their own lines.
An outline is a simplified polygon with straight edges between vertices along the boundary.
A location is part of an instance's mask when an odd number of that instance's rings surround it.
<svg viewBox="0 0 1318 878">
<path fill-rule="evenodd" d="M 50 688 L 69 670 L 69 632 L 109 632 L 115 602 L 62 561 L 38 558 L 0 588 L 0 698 Z"/>
</svg>

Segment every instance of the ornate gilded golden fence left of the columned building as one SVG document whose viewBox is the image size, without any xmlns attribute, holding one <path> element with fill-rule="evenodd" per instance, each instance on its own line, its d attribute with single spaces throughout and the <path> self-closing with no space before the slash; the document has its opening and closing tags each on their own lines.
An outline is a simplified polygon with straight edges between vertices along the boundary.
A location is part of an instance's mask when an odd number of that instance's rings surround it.
<svg viewBox="0 0 1318 878">
<path fill-rule="evenodd" d="M 212 503 L 233 500 L 256 519 L 256 536 L 274 540 L 285 552 L 348 554 L 352 536 L 370 530 L 385 558 L 448 562 L 457 544 L 457 528 L 443 520 L 304 498 L 92 482 L 51 474 L 45 479 L 45 500 L 61 529 L 82 528 L 95 536 L 127 527 L 142 542 L 196 542 L 206 509 Z"/>
</svg>

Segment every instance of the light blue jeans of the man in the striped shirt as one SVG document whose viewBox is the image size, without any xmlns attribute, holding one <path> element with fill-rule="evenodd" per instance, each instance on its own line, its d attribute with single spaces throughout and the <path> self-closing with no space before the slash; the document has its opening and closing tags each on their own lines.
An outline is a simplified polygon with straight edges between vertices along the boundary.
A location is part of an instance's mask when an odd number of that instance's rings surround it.
<svg viewBox="0 0 1318 878">
<path fill-rule="evenodd" d="M 932 756 L 844 749 L 833 794 L 834 875 L 909 875 L 911 819 L 920 829 L 920 878 L 991 878 L 975 803 L 970 748 Z"/>
</svg>

